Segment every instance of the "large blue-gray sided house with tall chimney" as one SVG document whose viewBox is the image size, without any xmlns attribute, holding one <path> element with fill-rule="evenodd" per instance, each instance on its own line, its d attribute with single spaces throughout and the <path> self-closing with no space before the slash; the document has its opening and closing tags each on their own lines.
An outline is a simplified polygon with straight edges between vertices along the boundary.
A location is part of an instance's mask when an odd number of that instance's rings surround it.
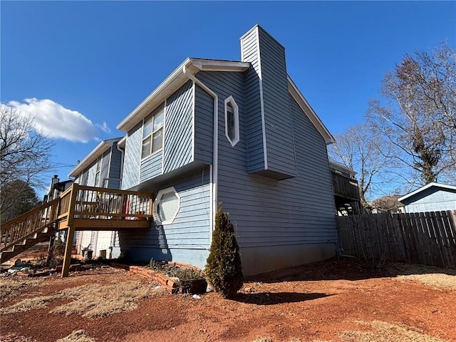
<svg viewBox="0 0 456 342">
<path fill-rule="evenodd" d="M 284 47 L 260 26 L 240 43 L 240 61 L 187 58 L 118 124 L 120 188 L 155 194 L 150 228 L 118 232 L 130 259 L 204 267 L 219 202 L 246 275 L 333 256 L 333 137 L 288 75 Z M 76 182 L 96 178 L 96 158 Z"/>
</svg>

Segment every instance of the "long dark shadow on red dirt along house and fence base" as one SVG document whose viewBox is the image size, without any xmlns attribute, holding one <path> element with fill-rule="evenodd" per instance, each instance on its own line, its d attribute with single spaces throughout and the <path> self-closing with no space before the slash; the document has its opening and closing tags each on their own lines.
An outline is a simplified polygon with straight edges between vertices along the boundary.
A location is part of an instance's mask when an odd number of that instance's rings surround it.
<svg viewBox="0 0 456 342">
<path fill-rule="evenodd" d="M 385 278 L 410 274 L 441 273 L 456 275 L 456 269 L 424 266 L 405 263 L 387 263 L 381 269 L 373 269 L 361 259 L 336 259 L 305 264 L 288 269 L 280 269 L 255 276 L 248 276 L 247 281 L 277 283 L 281 281 L 319 281 L 319 280 L 363 280 Z"/>
</svg>

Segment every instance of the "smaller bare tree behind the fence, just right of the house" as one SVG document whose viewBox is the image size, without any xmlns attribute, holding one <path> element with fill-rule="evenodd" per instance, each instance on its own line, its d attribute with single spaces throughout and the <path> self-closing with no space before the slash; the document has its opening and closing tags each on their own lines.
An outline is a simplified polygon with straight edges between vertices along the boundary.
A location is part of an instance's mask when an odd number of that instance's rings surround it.
<svg viewBox="0 0 456 342">
<path fill-rule="evenodd" d="M 395 175 L 388 172 L 392 169 L 390 158 L 391 144 L 381 135 L 371 133 L 368 125 L 360 124 L 348 128 L 346 132 L 335 135 L 336 143 L 330 145 L 328 153 L 331 159 L 340 162 L 356 171 L 361 204 L 370 210 L 368 197 L 373 193 L 385 193 L 395 184 Z"/>
</svg>

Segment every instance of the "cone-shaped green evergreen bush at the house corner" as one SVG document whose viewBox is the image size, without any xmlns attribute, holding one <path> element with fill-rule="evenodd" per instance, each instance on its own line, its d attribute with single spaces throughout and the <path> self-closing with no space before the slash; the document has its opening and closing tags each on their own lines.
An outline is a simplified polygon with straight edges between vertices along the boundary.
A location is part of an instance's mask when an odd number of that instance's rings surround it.
<svg viewBox="0 0 456 342">
<path fill-rule="evenodd" d="M 215 216 L 212 244 L 204 271 L 212 289 L 224 298 L 234 296 L 241 289 L 243 275 L 239 246 L 229 214 L 222 211 L 221 203 Z"/>
</svg>

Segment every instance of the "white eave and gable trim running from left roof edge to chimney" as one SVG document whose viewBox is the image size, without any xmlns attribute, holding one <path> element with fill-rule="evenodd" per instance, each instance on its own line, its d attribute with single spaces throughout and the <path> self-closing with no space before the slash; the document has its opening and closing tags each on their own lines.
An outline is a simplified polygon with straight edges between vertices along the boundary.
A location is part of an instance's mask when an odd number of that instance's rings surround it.
<svg viewBox="0 0 456 342">
<path fill-rule="evenodd" d="M 172 95 L 177 89 L 183 86 L 190 78 L 184 73 L 184 68 L 192 71 L 193 74 L 199 71 L 246 71 L 250 67 L 248 62 L 222 61 L 216 59 L 186 58 L 160 86 L 150 93 L 147 98 L 123 119 L 118 125 L 118 130 L 128 132 L 140 120 L 149 115 L 152 110 L 157 108 L 167 97 Z"/>
</svg>

